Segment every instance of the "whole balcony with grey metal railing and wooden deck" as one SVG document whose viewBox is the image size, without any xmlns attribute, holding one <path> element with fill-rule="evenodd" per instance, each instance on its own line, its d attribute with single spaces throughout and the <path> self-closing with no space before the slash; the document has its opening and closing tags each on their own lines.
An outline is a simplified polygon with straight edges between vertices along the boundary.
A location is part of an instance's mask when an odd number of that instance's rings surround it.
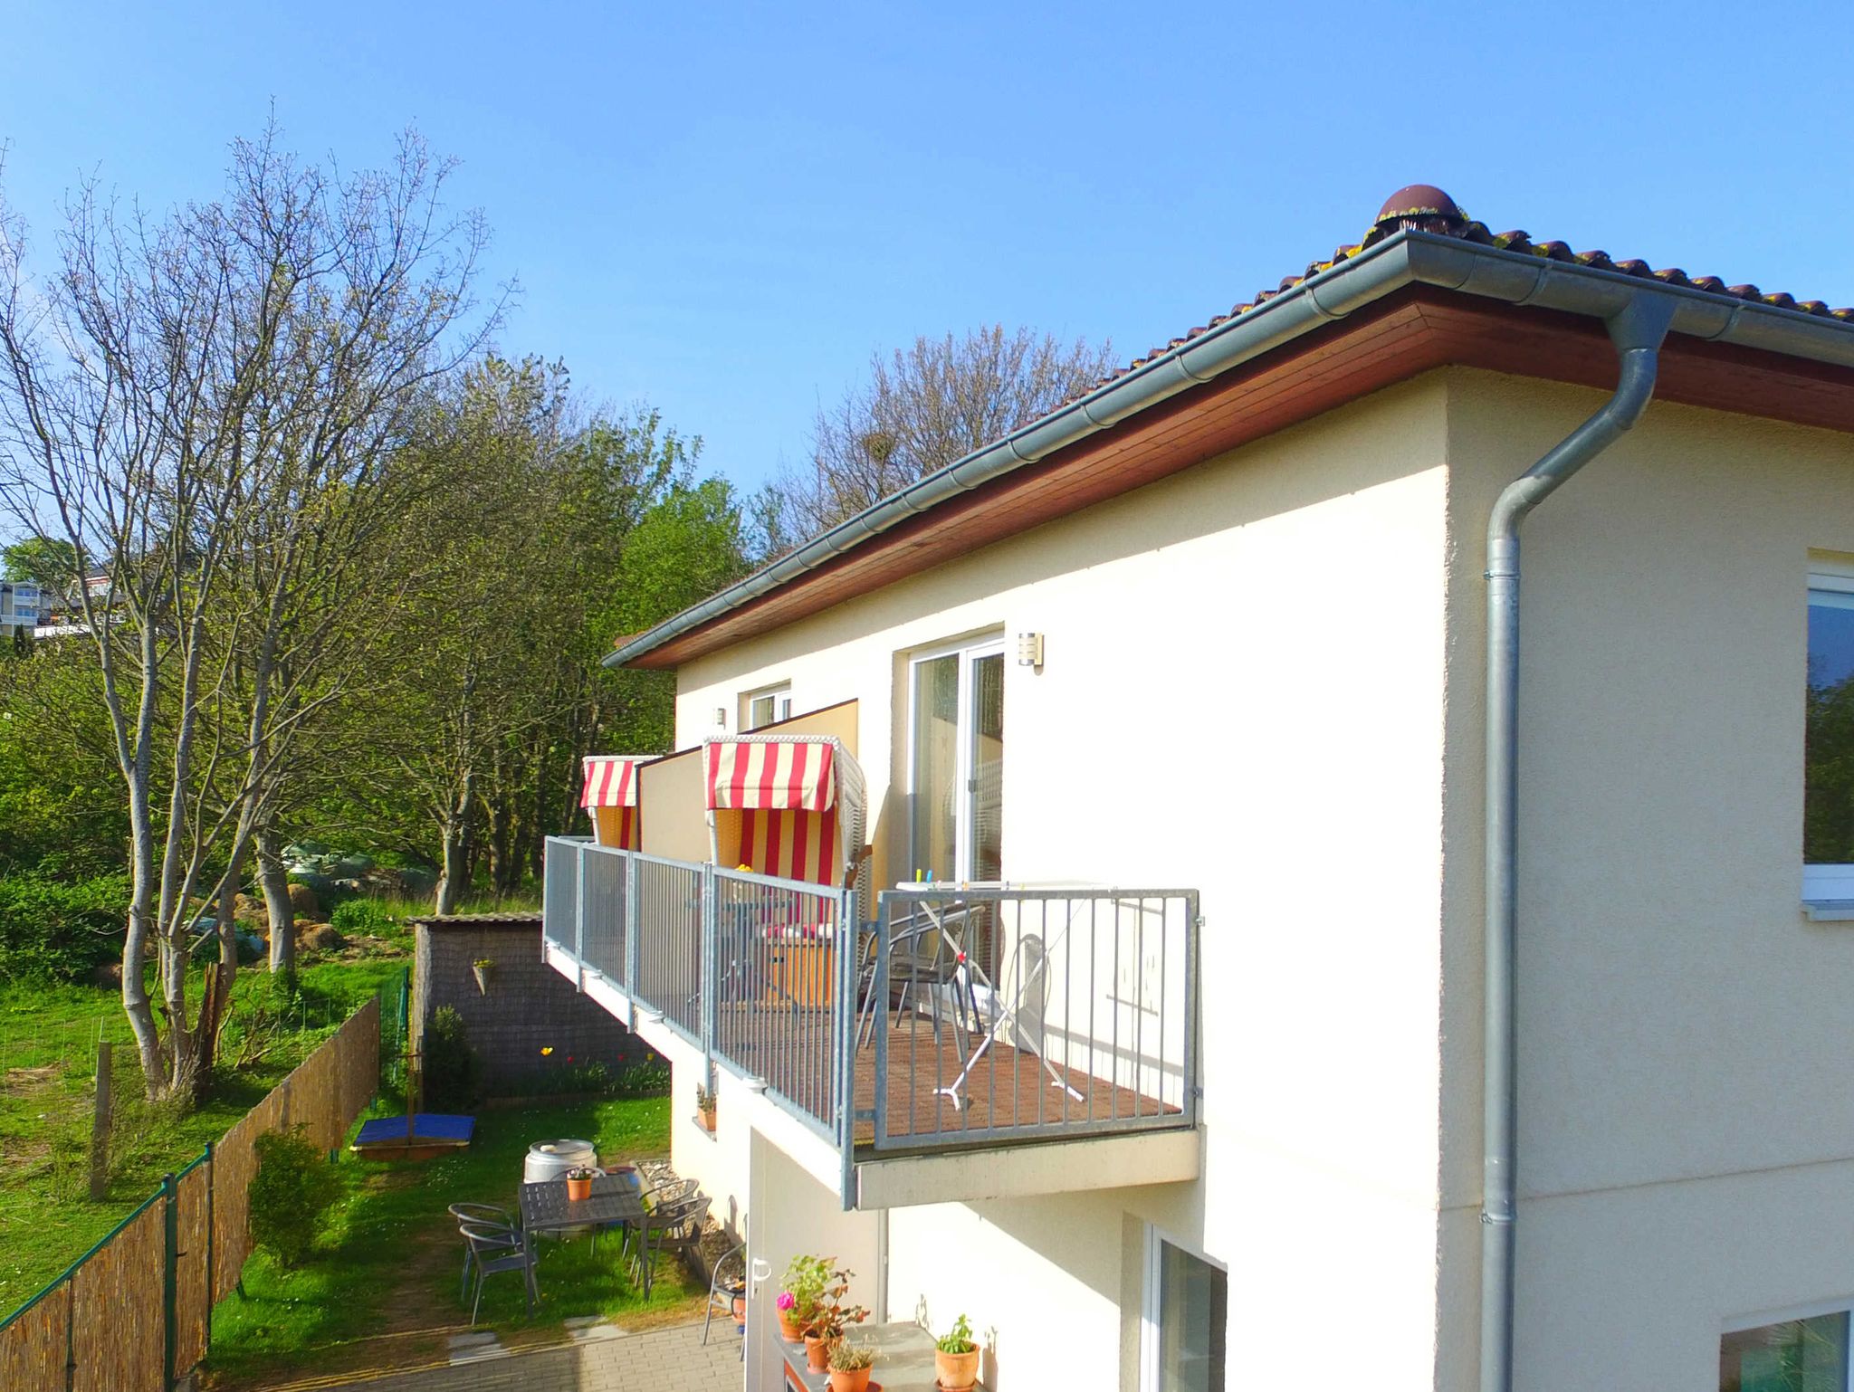
<svg viewBox="0 0 1854 1392">
<path fill-rule="evenodd" d="M 1194 892 L 905 886 L 857 908 L 547 843 L 549 962 L 797 1120 L 845 1209 L 1196 1175 Z"/>
</svg>

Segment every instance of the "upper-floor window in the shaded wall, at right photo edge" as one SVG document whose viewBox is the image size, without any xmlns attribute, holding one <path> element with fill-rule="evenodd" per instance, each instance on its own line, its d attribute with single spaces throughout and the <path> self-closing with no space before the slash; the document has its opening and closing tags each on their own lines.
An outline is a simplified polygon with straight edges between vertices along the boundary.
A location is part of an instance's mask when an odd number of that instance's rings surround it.
<svg viewBox="0 0 1854 1392">
<path fill-rule="evenodd" d="M 1810 576 L 1802 897 L 1854 899 L 1854 569 Z"/>
</svg>

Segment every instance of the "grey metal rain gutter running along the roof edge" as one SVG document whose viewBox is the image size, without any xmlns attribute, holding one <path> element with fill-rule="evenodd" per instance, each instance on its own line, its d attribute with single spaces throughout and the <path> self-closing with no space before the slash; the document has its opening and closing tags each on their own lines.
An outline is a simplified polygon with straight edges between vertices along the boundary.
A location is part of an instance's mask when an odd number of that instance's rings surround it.
<svg viewBox="0 0 1854 1392">
<path fill-rule="evenodd" d="M 1854 367 L 1854 324 L 1431 232 L 1398 232 L 875 502 L 771 565 L 629 639 L 604 658 L 604 665 L 621 667 L 641 658 L 825 565 L 914 513 L 1068 449 L 1407 285 L 1435 285 L 1598 319 L 1615 317 L 1641 297 L 1665 298 L 1674 306 L 1670 328 L 1676 334 Z"/>
</svg>

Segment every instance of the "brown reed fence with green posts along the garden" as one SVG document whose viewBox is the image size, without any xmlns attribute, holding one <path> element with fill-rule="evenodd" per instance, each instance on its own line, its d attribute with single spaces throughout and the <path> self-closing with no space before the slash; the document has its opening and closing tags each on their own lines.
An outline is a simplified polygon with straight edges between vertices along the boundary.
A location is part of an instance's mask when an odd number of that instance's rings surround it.
<svg viewBox="0 0 1854 1392">
<path fill-rule="evenodd" d="M 378 1090 L 375 997 L 250 1108 L 217 1145 L 0 1323 L 6 1392 L 167 1392 L 211 1344 L 211 1309 L 250 1257 L 258 1136 L 302 1125 L 324 1151 Z"/>
</svg>

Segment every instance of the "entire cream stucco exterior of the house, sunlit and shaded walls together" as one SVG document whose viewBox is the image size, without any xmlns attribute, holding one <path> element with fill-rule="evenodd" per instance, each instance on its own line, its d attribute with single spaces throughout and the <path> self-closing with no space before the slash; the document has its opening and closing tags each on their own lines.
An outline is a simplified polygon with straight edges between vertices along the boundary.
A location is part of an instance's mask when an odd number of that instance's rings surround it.
<svg viewBox="0 0 1854 1392">
<path fill-rule="evenodd" d="M 781 1194 L 775 1277 L 812 1212 L 858 1299 L 996 1331 L 988 1386 L 1137 1388 L 1151 1227 L 1227 1268 L 1231 1388 L 1476 1385 L 1483 532 L 1600 400 L 1435 371 L 680 669 L 680 747 L 753 690 L 858 701 L 897 877 L 910 654 L 1044 634 L 1005 667 L 1005 877 L 1201 892 L 1192 1183 L 834 1214 L 762 1173 L 803 1153 L 764 1099 L 684 1134 L 679 1069 L 677 1162 Z M 1854 929 L 1798 910 L 1811 550 L 1854 552 L 1848 437 L 1669 404 L 1528 525 L 1524 1392 L 1704 1392 L 1722 1329 L 1854 1305 Z"/>
</svg>

